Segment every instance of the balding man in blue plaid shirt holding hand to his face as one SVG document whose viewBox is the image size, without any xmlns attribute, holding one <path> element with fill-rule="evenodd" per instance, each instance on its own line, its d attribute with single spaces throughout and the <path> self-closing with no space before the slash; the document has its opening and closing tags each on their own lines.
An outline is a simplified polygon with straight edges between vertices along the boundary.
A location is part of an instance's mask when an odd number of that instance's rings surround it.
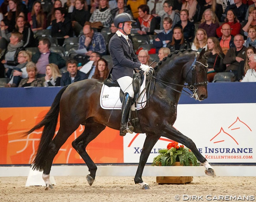
<svg viewBox="0 0 256 202">
<path fill-rule="evenodd" d="M 101 33 L 95 32 L 90 25 L 83 26 L 83 35 L 79 38 L 78 50 L 86 49 L 85 55 L 90 56 L 91 53 L 97 51 L 101 55 L 106 55 L 107 47 L 105 39 Z"/>
</svg>

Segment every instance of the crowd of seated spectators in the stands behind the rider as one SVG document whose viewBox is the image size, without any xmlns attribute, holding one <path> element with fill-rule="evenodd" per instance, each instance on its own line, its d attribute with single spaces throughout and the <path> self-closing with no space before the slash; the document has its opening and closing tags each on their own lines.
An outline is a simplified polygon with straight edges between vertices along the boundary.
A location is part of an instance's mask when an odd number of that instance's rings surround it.
<svg viewBox="0 0 256 202">
<path fill-rule="evenodd" d="M 256 81 L 256 0 L 4 0 L 0 78 L 9 78 L 6 87 L 104 81 L 120 13 L 136 21 L 128 37 L 142 64 L 205 48 L 208 82 L 218 72 Z"/>
</svg>

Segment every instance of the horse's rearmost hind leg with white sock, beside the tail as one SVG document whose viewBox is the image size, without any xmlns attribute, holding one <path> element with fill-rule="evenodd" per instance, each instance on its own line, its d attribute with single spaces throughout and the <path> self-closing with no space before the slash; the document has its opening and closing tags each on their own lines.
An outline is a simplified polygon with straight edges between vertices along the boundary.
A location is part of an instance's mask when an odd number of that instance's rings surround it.
<svg viewBox="0 0 256 202">
<path fill-rule="evenodd" d="M 63 124 L 65 125 L 65 124 Z M 61 146 L 67 141 L 69 136 L 78 128 L 79 125 L 71 125 L 65 127 L 60 127 L 58 133 L 56 134 L 55 138 L 52 140 L 52 142 L 48 146 L 48 152 L 44 155 L 47 156 L 47 159 L 44 163 L 44 169 L 43 169 L 43 180 L 45 181 L 46 187 L 45 190 L 48 190 L 49 188 L 53 188 L 51 182 L 50 182 L 50 170 L 52 167 L 52 162 L 54 160 L 54 157 L 58 153 Z"/>
</svg>

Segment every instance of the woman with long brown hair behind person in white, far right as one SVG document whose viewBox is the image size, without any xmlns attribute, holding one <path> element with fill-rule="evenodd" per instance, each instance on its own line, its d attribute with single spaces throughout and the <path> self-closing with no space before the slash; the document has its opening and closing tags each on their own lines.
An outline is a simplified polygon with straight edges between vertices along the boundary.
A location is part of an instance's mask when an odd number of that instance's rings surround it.
<svg viewBox="0 0 256 202">
<path fill-rule="evenodd" d="M 246 51 L 247 57 L 244 61 L 240 62 L 238 69 L 237 69 L 237 80 L 240 82 L 243 80 L 243 77 L 245 76 L 247 70 L 249 70 L 249 68 L 250 68 L 249 64 L 248 64 L 248 59 L 252 54 L 256 53 L 256 48 L 251 46 L 251 47 L 247 48 L 245 51 Z"/>
</svg>

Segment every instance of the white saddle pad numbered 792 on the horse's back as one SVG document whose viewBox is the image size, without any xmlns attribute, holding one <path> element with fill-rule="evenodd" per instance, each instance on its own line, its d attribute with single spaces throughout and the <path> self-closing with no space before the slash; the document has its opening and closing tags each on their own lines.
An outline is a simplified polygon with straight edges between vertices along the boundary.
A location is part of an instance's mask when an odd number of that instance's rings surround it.
<svg viewBox="0 0 256 202">
<path fill-rule="evenodd" d="M 145 108 L 146 106 L 146 100 L 147 100 L 147 96 L 146 96 L 146 90 L 145 90 L 145 86 L 146 86 L 146 74 L 144 73 L 144 80 L 143 80 L 143 84 L 140 86 L 139 89 L 139 94 L 141 94 L 137 100 L 137 110 L 140 110 L 142 108 Z M 143 93 L 141 93 L 143 92 Z M 120 87 L 109 87 L 106 86 L 105 84 L 103 84 L 102 88 L 101 88 L 101 92 L 100 92 L 100 107 L 102 107 L 103 109 L 119 109 L 121 110 L 122 108 L 122 103 L 120 101 Z M 132 110 L 135 110 L 135 105 L 132 105 Z"/>
</svg>

